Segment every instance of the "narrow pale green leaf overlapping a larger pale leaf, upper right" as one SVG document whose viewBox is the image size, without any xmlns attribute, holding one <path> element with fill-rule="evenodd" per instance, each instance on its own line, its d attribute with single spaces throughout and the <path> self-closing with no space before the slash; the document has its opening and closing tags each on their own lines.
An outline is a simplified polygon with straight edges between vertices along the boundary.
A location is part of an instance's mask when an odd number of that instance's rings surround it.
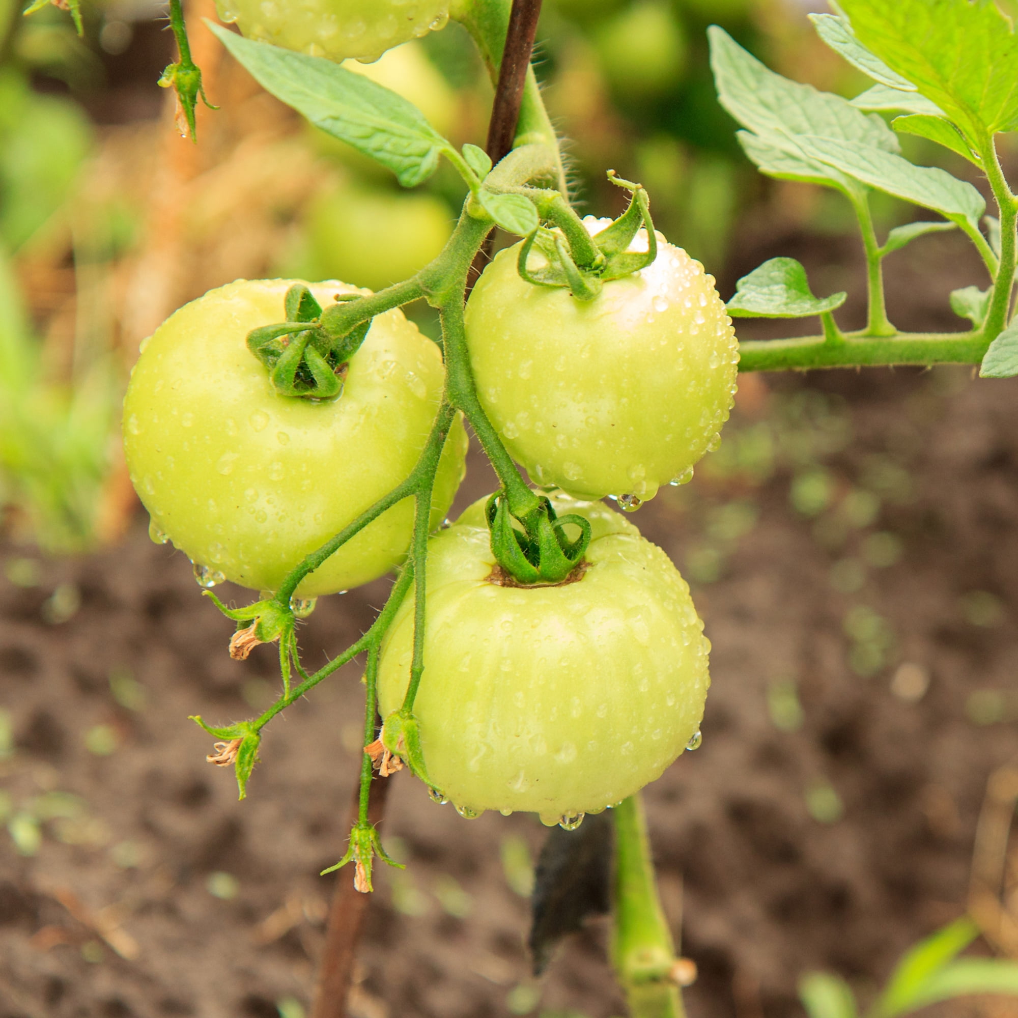
<svg viewBox="0 0 1018 1018">
<path fill-rule="evenodd" d="M 875 146 L 845 145 L 830 137 L 800 137 L 806 157 L 837 167 L 856 180 L 932 209 L 970 231 L 978 230 L 986 208 L 982 195 L 969 183 L 930 166 L 915 166 L 907 159 Z"/>
</svg>

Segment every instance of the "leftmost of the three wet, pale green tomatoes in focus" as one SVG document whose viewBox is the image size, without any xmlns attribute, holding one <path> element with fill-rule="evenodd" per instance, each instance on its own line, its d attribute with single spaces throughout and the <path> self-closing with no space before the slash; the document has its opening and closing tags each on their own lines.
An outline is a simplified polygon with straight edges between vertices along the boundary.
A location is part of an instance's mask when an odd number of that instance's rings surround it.
<svg viewBox="0 0 1018 1018">
<path fill-rule="evenodd" d="M 124 450 L 154 532 L 172 540 L 207 581 L 277 589 L 309 552 L 412 470 L 442 395 L 438 347 L 402 312 L 375 319 L 331 402 L 276 394 L 247 350 L 248 331 L 285 319 L 292 280 L 238 280 L 192 300 L 143 344 L 124 399 Z M 345 283 L 312 285 L 326 306 Z M 433 525 L 463 476 L 461 422 L 446 442 Z M 344 545 L 300 598 L 381 576 L 404 557 L 413 500 Z M 217 575 L 218 574 L 218 575 Z"/>
</svg>

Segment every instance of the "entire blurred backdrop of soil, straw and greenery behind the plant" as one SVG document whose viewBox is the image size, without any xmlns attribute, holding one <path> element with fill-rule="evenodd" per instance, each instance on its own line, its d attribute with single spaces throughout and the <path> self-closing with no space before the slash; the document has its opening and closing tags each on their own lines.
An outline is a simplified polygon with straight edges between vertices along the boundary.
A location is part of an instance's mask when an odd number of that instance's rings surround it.
<svg viewBox="0 0 1018 1018">
<path fill-rule="evenodd" d="M 649 187 L 659 228 L 724 296 L 788 254 L 816 293 L 848 289 L 839 322 L 861 325 L 847 208 L 748 166 L 706 66 L 703 27 L 721 21 L 790 76 L 862 91 L 805 8 L 546 7 L 540 69 L 584 211 L 619 211 L 613 167 Z M 187 560 L 149 541 L 120 393 L 139 340 L 184 301 L 243 276 L 386 285 L 437 252 L 462 193 L 446 171 L 401 193 L 314 133 L 223 58 L 203 0 L 192 46 L 221 109 L 200 111 L 192 146 L 155 87 L 171 59 L 161 11 L 86 13 L 81 41 L 56 8 L 0 11 L 0 1018 L 300 1018 L 336 879 L 317 874 L 345 848 L 358 673 L 270 727 L 238 803 L 186 719 L 262 710 L 275 655 L 230 661 L 231 623 Z M 478 143 L 491 94 L 466 42 L 450 29 L 362 69 Z M 876 213 L 883 230 L 917 218 L 890 201 Z M 947 293 L 984 285 L 950 234 L 886 268 L 906 329 L 963 328 Z M 796 981 L 817 968 L 868 1000 L 964 912 L 987 780 L 1018 723 L 1016 394 L 961 367 L 745 377 L 718 452 L 633 517 L 714 641 L 702 747 L 646 793 L 666 909 L 699 969 L 691 1018 L 801 1014 Z M 457 508 L 492 487 L 472 455 Z M 305 662 L 356 638 L 386 586 L 323 599 Z M 407 869 L 380 867 L 352 1014 L 622 1014 L 603 920 L 529 975 L 536 821 L 465 821 L 390 780 L 383 836 Z"/>
</svg>

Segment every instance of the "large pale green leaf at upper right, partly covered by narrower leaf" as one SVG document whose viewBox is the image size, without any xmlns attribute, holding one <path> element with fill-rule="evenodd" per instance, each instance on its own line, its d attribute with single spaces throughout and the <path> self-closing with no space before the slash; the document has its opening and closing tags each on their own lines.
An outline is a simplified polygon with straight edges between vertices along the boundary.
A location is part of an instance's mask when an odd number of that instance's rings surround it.
<svg viewBox="0 0 1018 1018">
<path fill-rule="evenodd" d="M 858 192 L 858 185 L 837 167 L 804 153 L 796 145 L 797 138 L 819 135 L 850 145 L 873 146 L 888 153 L 900 151 L 898 138 L 881 116 L 863 113 L 841 96 L 776 74 L 717 25 L 712 25 L 708 35 L 718 99 L 756 135 L 757 140 L 749 144 L 740 138 L 754 162 L 758 155 L 765 165 L 774 167 L 776 154 L 784 153 L 791 162 L 785 162 L 781 175 Z M 791 170 L 793 165 L 797 172 Z"/>
</svg>

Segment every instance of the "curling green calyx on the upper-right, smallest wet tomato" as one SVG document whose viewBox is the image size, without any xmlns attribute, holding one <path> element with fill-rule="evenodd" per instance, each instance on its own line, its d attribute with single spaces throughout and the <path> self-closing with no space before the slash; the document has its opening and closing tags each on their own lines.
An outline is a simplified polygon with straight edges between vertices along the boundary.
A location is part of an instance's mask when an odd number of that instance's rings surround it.
<svg viewBox="0 0 1018 1018">
<path fill-rule="evenodd" d="M 641 184 L 623 180 L 614 170 L 609 170 L 608 179 L 630 192 L 629 205 L 610 226 L 591 237 L 593 259 L 588 251 L 578 251 L 561 232 L 539 226 L 519 250 L 516 267 L 521 279 L 533 286 L 564 287 L 577 300 L 592 300 L 609 280 L 639 272 L 654 262 L 658 237 L 646 190 Z M 631 251 L 629 246 L 641 228 L 646 230 L 647 248 Z M 535 266 L 530 264 L 534 247 L 543 262 Z"/>
</svg>

